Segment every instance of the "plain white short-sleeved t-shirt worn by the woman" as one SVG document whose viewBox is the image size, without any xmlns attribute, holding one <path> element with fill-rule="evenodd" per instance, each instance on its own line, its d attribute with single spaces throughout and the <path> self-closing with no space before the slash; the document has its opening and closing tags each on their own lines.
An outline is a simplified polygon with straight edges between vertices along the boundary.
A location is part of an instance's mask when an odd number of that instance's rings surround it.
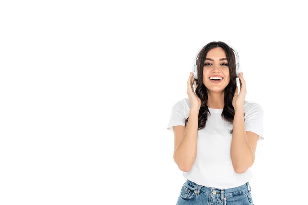
<svg viewBox="0 0 308 205">
<path fill-rule="evenodd" d="M 167 129 L 173 132 L 173 126 L 185 126 L 189 110 L 188 98 L 175 103 Z M 207 118 L 206 126 L 198 130 L 194 165 L 189 172 L 183 172 L 183 176 L 199 185 L 228 189 L 248 182 L 252 179 L 252 173 L 249 168 L 242 174 L 236 173 L 233 169 L 230 155 L 232 134 L 229 132 L 233 124 L 221 117 L 222 110 L 209 108 L 211 115 Z M 262 107 L 258 103 L 245 100 L 244 112 L 246 131 L 258 134 L 259 141 L 263 140 Z"/>
</svg>

